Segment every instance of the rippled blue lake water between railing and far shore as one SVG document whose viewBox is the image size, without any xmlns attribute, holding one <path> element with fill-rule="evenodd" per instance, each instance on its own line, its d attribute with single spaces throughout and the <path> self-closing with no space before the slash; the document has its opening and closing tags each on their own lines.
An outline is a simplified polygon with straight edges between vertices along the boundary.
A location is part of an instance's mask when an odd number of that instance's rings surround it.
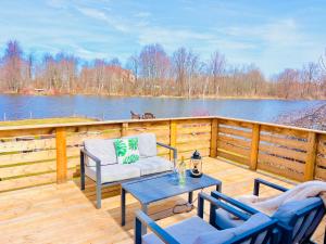
<svg viewBox="0 0 326 244">
<path fill-rule="evenodd" d="M 82 115 L 99 119 L 127 119 L 130 111 L 151 112 L 158 118 L 220 115 L 274 121 L 325 101 L 201 100 L 162 98 L 112 98 L 99 95 L 0 95 L 0 120 Z"/>
</svg>

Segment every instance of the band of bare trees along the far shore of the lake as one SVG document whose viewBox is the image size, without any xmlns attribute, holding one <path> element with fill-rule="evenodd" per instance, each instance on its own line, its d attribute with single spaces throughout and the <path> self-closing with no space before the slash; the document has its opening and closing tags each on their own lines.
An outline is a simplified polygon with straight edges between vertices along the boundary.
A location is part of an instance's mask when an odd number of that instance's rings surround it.
<svg viewBox="0 0 326 244">
<path fill-rule="evenodd" d="M 147 44 L 123 65 L 118 57 L 86 61 L 65 52 L 25 53 L 10 40 L 0 56 L 0 91 L 48 94 L 166 95 L 185 98 L 326 98 L 326 50 L 317 62 L 266 78 L 260 68 L 230 65 L 220 51 L 203 60 L 180 47 L 171 55 Z"/>
</svg>

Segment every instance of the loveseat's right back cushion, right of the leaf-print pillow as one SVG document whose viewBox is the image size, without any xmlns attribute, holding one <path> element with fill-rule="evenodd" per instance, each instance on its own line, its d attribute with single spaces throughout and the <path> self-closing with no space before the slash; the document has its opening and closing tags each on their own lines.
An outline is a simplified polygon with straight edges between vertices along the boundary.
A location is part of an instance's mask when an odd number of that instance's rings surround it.
<svg viewBox="0 0 326 244">
<path fill-rule="evenodd" d="M 154 133 L 139 133 L 125 138 L 138 138 L 140 157 L 153 157 L 158 155 L 156 136 Z"/>
</svg>

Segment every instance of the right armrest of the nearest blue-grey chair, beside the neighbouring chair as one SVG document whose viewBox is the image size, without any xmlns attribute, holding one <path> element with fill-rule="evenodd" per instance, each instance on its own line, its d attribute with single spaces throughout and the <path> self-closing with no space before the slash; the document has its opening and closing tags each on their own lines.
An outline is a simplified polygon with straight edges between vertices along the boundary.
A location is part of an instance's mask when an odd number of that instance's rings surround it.
<svg viewBox="0 0 326 244">
<path fill-rule="evenodd" d="M 242 211 L 239 211 L 238 209 L 231 207 L 228 204 L 225 204 L 225 203 L 221 202 L 220 200 L 216 200 L 215 197 L 213 197 L 211 195 L 208 195 L 205 193 L 199 193 L 198 194 L 198 216 L 201 217 L 201 218 L 203 217 L 204 200 L 209 201 L 211 206 L 214 206 L 215 208 L 216 207 L 223 208 L 224 210 L 230 213 L 231 215 L 238 217 L 241 220 L 249 219 L 249 217 L 251 215 L 251 213 L 249 213 L 250 215 L 247 215 Z M 213 213 L 211 213 L 211 215 Z"/>
</svg>

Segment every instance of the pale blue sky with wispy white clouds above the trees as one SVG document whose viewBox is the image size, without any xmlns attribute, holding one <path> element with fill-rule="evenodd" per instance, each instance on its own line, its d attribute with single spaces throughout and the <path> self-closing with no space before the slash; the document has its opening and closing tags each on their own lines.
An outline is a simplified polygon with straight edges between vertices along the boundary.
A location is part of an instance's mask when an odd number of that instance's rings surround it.
<svg viewBox="0 0 326 244">
<path fill-rule="evenodd" d="M 317 61 L 326 48 L 325 0 L 0 0 L 0 51 L 16 39 L 36 55 L 65 51 L 122 62 L 148 43 L 180 46 L 203 60 L 218 50 L 229 64 L 266 75 Z"/>
</svg>

